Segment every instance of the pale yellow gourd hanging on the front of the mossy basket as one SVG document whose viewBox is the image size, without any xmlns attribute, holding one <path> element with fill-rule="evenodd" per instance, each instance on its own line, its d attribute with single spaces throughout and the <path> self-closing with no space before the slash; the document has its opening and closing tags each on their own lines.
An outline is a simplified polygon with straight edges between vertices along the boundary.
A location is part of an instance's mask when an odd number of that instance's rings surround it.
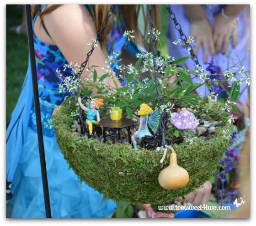
<svg viewBox="0 0 256 226">
<path fill-rule="evenodd" d="M 171 148 L 171 151 L 170 165 L 162 170 L 158 176 L 158 182 L 161 187 L 169 190 L 182 188 L 189 181 L 187 170 L 177 164 L 177 155 L 173 148 Z"/>
</svg>

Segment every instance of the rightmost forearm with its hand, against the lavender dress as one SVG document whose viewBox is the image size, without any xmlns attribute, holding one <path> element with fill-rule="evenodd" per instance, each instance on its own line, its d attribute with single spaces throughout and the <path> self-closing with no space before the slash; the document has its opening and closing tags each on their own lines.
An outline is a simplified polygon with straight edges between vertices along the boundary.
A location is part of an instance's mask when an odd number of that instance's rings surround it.
<svg viewBox="0 0 256 226">
<path fill-rule="evenodd" d="M 222 53 L 225 54 L 229 47 L 229 39 L 232 38 L 232 47 L 237 45 L 236 18 L 246 5 L 226 5 L 224 15 L 222 11 L 214 16 L 213 39 L 216 52 L 223 46 Z M 232 30 L 230 30 L 232 29 Z M 230 33 L 231 32 L 231 33 Z"/>
</svg>

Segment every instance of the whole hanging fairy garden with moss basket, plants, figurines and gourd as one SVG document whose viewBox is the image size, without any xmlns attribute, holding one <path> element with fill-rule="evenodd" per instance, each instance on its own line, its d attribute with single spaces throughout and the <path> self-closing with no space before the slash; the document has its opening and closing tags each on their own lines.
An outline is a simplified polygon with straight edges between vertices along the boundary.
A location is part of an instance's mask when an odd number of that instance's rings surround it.
<svg viewBox="0 0 256 226">
<path fill-rule="evenodd" d="M 158 33 L 150 32 L 157 39 Z M 126 35 L 133 37 L 132 31 Z M 188 39 L 187 45 L 192 41 Z M 96 44 L 92 43 L 93 48 Z M 88 73 L 87 78 L 81 79 L 81 67 L 76 62 L 65 66 L 70 77 L 65 77 L 59 88 L 70 96 L 53 115 L 52 123 L 64 158 L 80 180 L 106 198 L 131 205 L 166 204 L 200 188 L 207 180 L 214 179 L 221 186 L 221 179 L 229 174 L 223 159 L 230 157 L 228 148 L 234 143 L 240 82 L 248 82 L 248 78 L 234 79 L 226 97 L 220 100 L 215 91 L 222 81 L 214 79 L 219 74 L 204 73 L 200 64 L 193 71 L 179 67 L 188 58 L 176 60 L 142 52 L 132 66 L 123 65 L 113 54 L 107 62 L 118 62 L 122 87 L 104 84 L 106 77 L 112 77 L 108 68 L 106 74 L 98 75 L 96 66 L 87 66 L 83 72 Z M 61 77 L 61 70 L 57 72 Z M 150 76 L 144 78 L 144 73 Z M 225 78 L 235 77 L 235 73 L 224 73 Z M 193 83 L 193 77 L 200 77 L 202 82 Z M 210 91 L 205 97 L 196 92 L 203 85 Z M 88 98 L 81 102 L 80 97 Z M 148 108 L 142 112 L 144 104 Z M 112 118 L 114 108 L 120 109 L 117 118 Z M 85 123 L 90 121 L 86 129 L 81 128 L 85 125 L 81 123 L 81 109 L 87 114 L 96 111 L 93 118 L 84 118 Z M 101 123 L 106 118 L 111 120 L 107 126 Z M 132 120 L 132 124 L 122 127 L 118 124 L 122 118 Z M 100 133 L 95 126 L 100 127 Z M 168 170 L 173 178 L 176 171 L 182 174 L 180 184 L 177 179 L 172 179 L 176 185 L 168 183 Z M 218 195 L 223 200 L 224 191 Z"/>
</svg>

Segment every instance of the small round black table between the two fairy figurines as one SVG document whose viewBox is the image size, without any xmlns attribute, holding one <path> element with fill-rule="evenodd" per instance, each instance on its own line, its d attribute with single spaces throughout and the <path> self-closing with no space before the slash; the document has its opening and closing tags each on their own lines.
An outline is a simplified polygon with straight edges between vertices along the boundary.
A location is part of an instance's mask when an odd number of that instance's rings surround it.
<svg viewBox="0 0 256 226">
<path fill-rule="evenodd" d="M 112 137 L 113 144 L 115 139 L 121 139 L 121 131 L 126 129 L 128 132 L 128 142 L 131 144 L 131 126 L 134 124 L 133 120 L 129 118 L 121 118 L 119 122 L 113 122 L 111 118 L 104 118 L 99 121 L 99 124 L 103 128 L 103 139 L 106 141 L 106 131 L 109 133 L 109 136 Z"/>
</svg>

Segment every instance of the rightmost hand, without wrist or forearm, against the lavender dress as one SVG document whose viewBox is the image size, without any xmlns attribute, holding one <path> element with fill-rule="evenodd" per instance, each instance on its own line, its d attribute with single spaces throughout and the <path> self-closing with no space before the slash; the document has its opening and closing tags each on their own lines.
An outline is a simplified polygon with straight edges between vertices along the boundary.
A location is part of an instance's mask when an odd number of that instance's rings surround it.
<svg viewBox="0 0 256 226">
<path fill-rule="evenodd" d="M 222 53 L 225 54 L 229 47 L 229 36 L 232 38 L 232 47 L 237 45 L 236 18 L 228 20 L 221 13 L 214 16 L 213 40 L 216 53 L 223 46 Z"/>
</svg>

